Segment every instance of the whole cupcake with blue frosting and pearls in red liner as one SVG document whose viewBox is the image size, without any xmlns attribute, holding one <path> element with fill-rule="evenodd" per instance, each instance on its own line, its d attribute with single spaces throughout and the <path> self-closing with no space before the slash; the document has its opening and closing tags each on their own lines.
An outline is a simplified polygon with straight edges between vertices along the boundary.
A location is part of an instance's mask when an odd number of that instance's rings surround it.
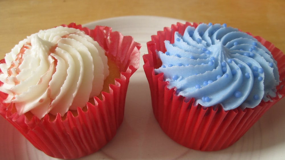
<svg viewBox="0 0 285 160">
<path fill-rule="evenodd" d="M 259 36 L 187 22 L 151 39 L 143 68 L 153 113 L 181 145 L 227 148 L 284 97 L 285 56 Z"/>
</svg>

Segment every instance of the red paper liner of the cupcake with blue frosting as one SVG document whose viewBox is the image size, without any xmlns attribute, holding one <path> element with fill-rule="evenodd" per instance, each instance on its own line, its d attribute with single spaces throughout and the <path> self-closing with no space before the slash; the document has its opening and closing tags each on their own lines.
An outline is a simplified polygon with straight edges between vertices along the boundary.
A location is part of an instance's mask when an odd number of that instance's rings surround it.
<svg viewBox="0 0 285 160">
<path fill-rule="evenodd" d="M 183 35 L 187 26 L 197 27 L 197 23 L 177 23 L 171 28 L 165 27 L 153 35 L 147 42 L 148 54 L 143 55 L 144 71 L 150 86 L 153 113 L 162 130 L 174 141 L 191 149 L 216 151 L 235 143 L 272 105 L 285 95 L 282 88 L 285 80 L 277 86 L 278 96 L 271 102 L 261 102 L 255 108 L 224 111 L 220 105 L 203 107 L 194 106 L 194 98 L 186 101 L 183 96 L 176 96 L 175 89 L 168 89 L 163 73 L 155 74 L 154 68 L 161 66 L 157 51 L 165 52 L 164 40 L 174 42 L 174 32 Z M 250 34 L 250 33 L 248 33 Z M 251 34 L 250 34 L 251 35 Z M 261 37 L 255 37 L 272 53 L 278 61 L 280 78 L 285 77 L 285 56 L 272 43 Z"/>
</svg>

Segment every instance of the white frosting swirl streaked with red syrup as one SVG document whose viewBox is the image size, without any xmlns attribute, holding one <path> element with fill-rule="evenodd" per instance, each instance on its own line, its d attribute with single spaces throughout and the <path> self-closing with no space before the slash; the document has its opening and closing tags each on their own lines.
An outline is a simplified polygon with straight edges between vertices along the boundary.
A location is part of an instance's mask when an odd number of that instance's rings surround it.
<svg viewBox="0 0 285 160">
<path fill-rule="evenodd" d="M 83 31 L 56 27 L 32 34 L 5 55 L 0 64 L 4 103 L 19 115 L 31 111 L 63 116 L 100 94 L 109 75 L 105 51 Z M 92 86 L 92 87 L 91 87 Z"/>
</svg>

